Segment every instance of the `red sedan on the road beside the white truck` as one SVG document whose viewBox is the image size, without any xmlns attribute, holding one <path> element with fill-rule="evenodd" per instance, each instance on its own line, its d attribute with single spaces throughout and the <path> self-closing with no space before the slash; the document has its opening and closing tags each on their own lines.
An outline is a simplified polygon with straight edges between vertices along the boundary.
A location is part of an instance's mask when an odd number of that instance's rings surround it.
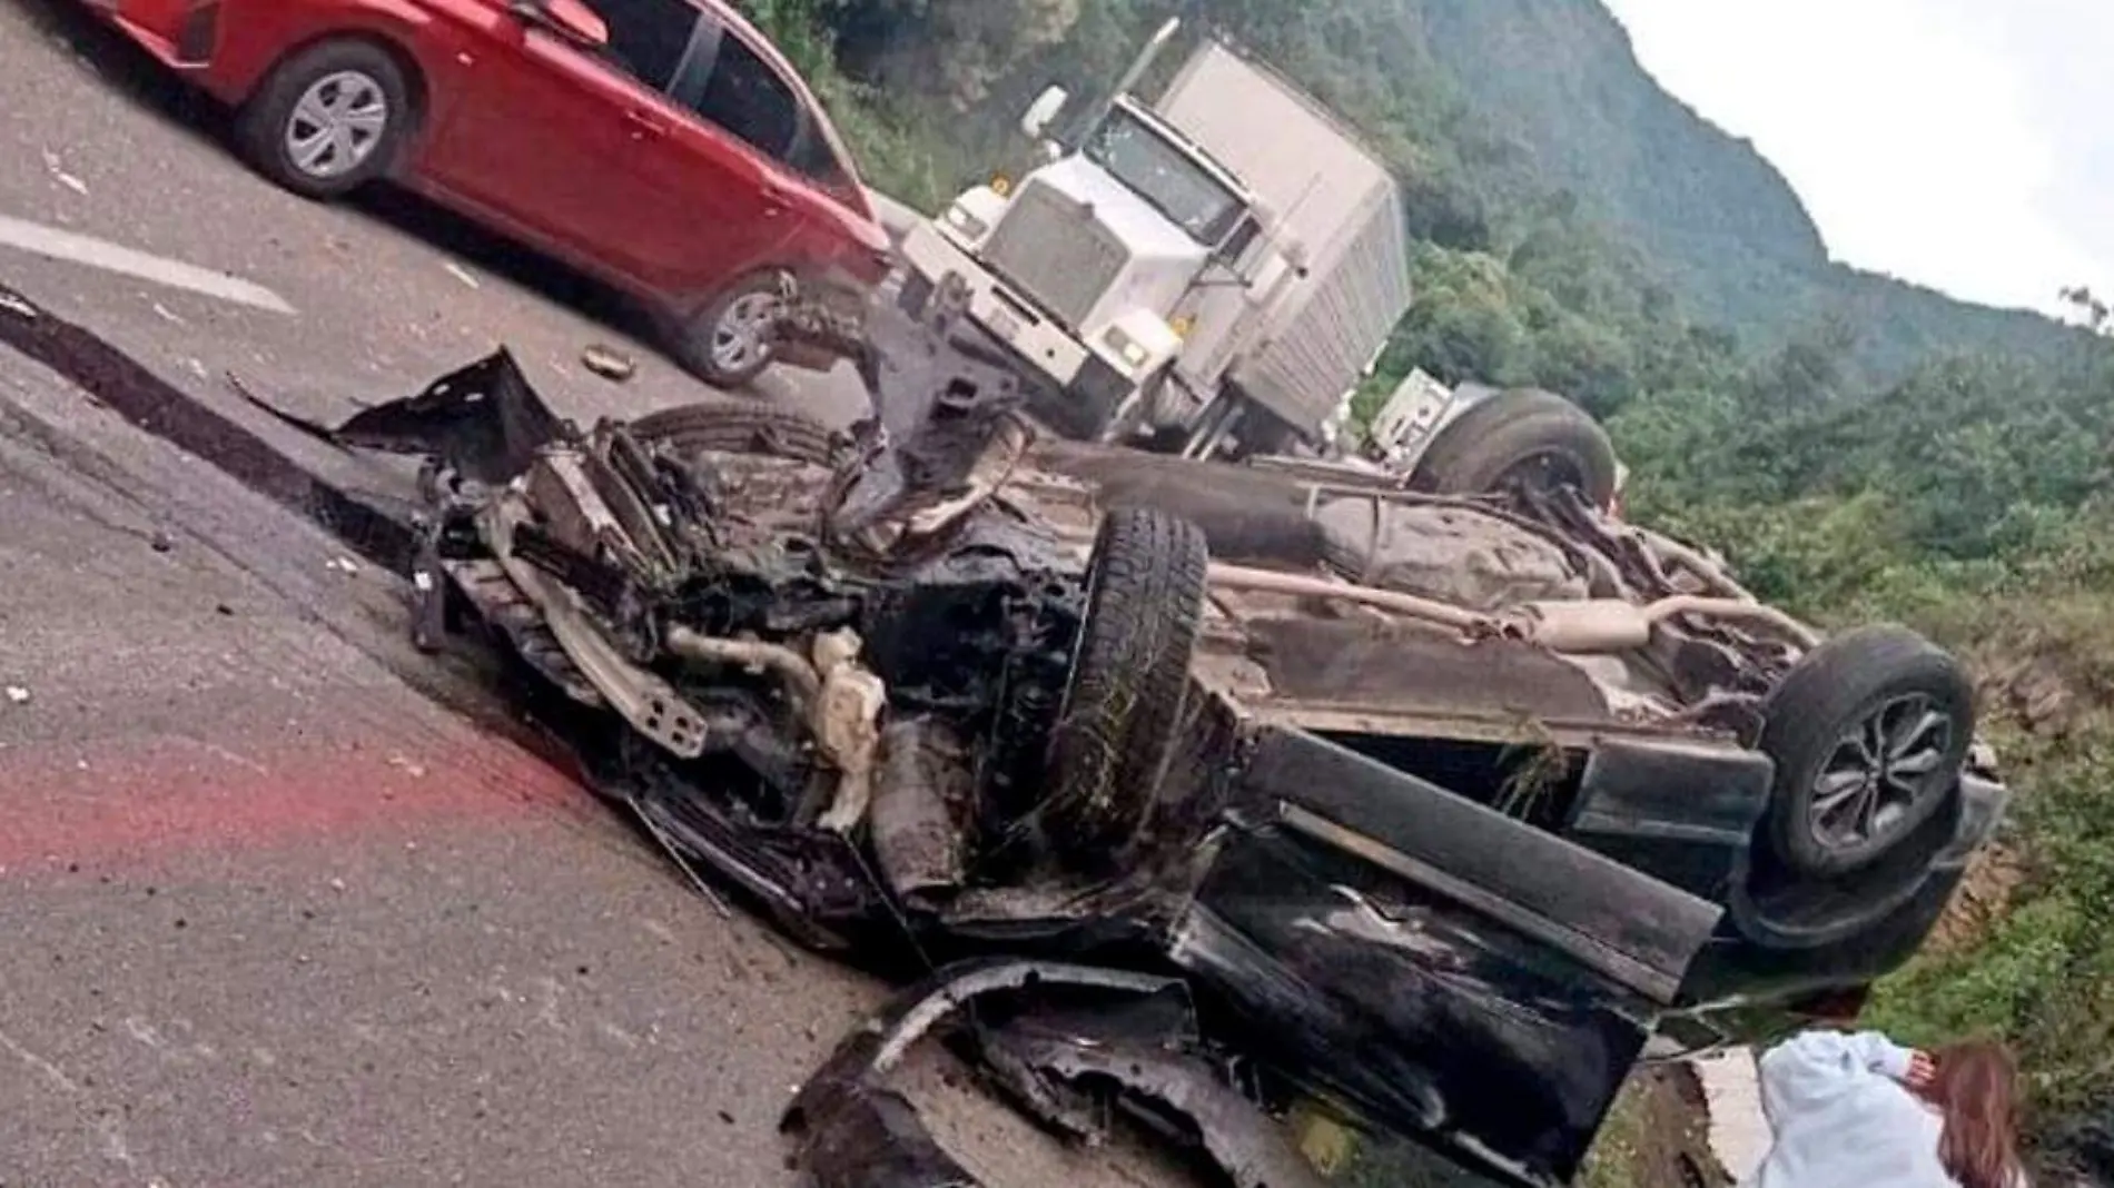
<svg viewBox="0 0 2114 1188">
<path fill-rule="evenodd" d="M 780 275 L 856 300 L 888 271 L 829 116 L 721 0 L 89 4 L 235 106 L 273 182 L 419 190 L 645 298 L 708 383 L 772 361 Z"/>
</svg>

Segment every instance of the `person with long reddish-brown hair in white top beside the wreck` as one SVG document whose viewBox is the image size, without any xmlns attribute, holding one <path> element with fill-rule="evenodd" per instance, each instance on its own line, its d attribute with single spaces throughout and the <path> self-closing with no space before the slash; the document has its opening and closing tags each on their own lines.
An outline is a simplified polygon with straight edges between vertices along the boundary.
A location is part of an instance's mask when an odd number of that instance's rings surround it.
<svg viewBox="0 0 2114 1188">
<path fill-rule="evenodd" d="M 2025 1188 L 2019 1063 L 1996 1040 L 1930 1053 L 1805 1032 L 1761 1057 L 1772 1146 L 1742 1188 Z"/>
</svg>

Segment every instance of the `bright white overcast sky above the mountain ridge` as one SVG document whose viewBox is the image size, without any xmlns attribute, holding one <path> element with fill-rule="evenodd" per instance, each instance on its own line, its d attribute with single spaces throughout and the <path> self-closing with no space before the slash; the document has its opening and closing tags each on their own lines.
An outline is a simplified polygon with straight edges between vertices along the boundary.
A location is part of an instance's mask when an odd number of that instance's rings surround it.
<svg viewBox="0 0 2114 1188">
<path fill-rule="evenodd" d="M 2114 2 L 1607 0 L 1837 260 L 1989 304 L 2114 292 Z"/>
</svg>

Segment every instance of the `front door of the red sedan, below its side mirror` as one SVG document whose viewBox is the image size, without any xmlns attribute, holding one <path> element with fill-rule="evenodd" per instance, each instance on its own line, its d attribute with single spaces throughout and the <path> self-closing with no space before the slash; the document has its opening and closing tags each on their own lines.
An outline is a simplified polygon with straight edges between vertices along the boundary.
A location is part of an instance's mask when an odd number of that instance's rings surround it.
<svg viewBox="0 0 2114 1188">
<path fill-rule="evenodd" d="M 700 47 L 689 0 L 592 0 L 609 44 L 590 49 L 490 4 L 457 57 L 457 95 L 425 154 L 429 186 L 634 290 L 653 290 L 660 245 L 638 233 L 670 205 L 666 87 Z"/>
</svg>

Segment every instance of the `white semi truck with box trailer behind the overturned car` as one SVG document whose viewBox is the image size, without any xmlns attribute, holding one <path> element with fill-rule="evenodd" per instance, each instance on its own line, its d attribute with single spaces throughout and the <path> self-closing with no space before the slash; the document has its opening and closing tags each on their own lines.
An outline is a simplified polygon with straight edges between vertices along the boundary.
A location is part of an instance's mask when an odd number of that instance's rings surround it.
<svg viewBox="0 0 2114 1188">
<path fill-rule="evenodd" d="M 1402 201 L 1387 165 L 1319 101 L 1207 38 L 1165 93 L 1133 95 L 1169 21 L 1070 144 L 960 194 L 903 243 L 903 302 L 949 273 L 1004 345 L 1044 421 L 1074 438 L 1321 444 L 1410 307 Z"/>
</svg>

